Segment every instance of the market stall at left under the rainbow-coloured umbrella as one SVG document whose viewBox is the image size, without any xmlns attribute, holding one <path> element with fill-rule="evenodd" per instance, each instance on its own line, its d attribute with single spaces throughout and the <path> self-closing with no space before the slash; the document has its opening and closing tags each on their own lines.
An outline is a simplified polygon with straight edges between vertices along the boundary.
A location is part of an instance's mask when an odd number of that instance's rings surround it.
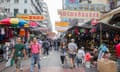
<svg viewBox="0 0 120 72">
<path fill-rule="evenodd" d="M 21 36 L 25 39 L 28 37 L 28 27 L 28 22 L 19 18 L 5 18 L 0 20 L 0 42 L 4 43 L 14 38 L 14 36 Z"/>
</svg>

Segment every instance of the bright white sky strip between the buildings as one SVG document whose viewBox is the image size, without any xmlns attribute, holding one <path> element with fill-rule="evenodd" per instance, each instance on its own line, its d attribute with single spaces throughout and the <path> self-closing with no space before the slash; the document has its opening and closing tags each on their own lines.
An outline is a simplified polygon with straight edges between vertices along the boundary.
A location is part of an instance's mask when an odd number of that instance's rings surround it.
<svg viewBox="0 0 120 72">
<path fill-rule="evenodd" d="M 44 0 L 48 5 L 48 11 L 53 25 L 53 30 L 55 30 L 55 21 L 60 21 L 58 15 L 58 9 L 62 9 L 62 0 Z"/>
</svg>

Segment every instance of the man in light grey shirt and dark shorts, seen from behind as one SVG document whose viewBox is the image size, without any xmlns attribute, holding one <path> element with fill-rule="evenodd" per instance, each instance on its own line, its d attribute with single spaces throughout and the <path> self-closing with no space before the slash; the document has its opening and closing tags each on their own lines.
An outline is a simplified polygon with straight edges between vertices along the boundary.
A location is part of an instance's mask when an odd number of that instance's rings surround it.
<svg viewBox="0 0 120 72">
<path fill-rule="evenodd" d="M 68 53 L 70 58 L 71 68 L 75 67 L 75 56 L 77 52 L 77 44 L 75 43 L 74 39 L 71 39 L 71 42 L 68 44 Z"/>
</svg>

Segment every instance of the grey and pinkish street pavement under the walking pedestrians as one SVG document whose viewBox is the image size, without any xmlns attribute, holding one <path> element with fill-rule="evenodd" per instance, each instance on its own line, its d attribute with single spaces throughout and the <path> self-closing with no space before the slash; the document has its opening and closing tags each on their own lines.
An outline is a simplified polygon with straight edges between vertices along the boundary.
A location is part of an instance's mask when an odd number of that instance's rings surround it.
<svg viewBox="0 0 120 72">
<path fill-rule="evenodd" d="M 4 67 L 4 68 L 3 68 Z M 23 61 L 23 72 L 30 72 L 30 59 Z M 1 69 L 2 68 L 2 69 Z M 35 72 L 37 72 L 35 67 Z M 15 72 L 15 65 L 13 67 L 5 68 L 5 63 L 0 65 L 0 72 Z M 41 72 L 87 72 L 84 67 L 70 69 L 69 65 L 65 65 L 63 68 L 60 63 L 60 55 L 57 51 L 50 52 L 49 56 L 43 56 L 41 58 Z M 91 69 L 89 72 L 97 72 Z"/>
</svg>

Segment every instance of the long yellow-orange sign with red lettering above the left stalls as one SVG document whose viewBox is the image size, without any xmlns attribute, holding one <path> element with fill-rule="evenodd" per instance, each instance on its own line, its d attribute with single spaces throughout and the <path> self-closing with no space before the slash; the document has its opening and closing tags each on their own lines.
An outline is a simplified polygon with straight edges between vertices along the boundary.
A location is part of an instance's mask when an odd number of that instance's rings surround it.
<svg viewBox="0 0 120 72">
<path fill-rule="evenodd" d="M 24 20 L 32 20 L 32 21 L 42 21 L 45 20 L 45 17 L 42 15 L 24 15 L 24 14 L 18 14 L 17 18 L 21 18 Z"/>
</svg>

